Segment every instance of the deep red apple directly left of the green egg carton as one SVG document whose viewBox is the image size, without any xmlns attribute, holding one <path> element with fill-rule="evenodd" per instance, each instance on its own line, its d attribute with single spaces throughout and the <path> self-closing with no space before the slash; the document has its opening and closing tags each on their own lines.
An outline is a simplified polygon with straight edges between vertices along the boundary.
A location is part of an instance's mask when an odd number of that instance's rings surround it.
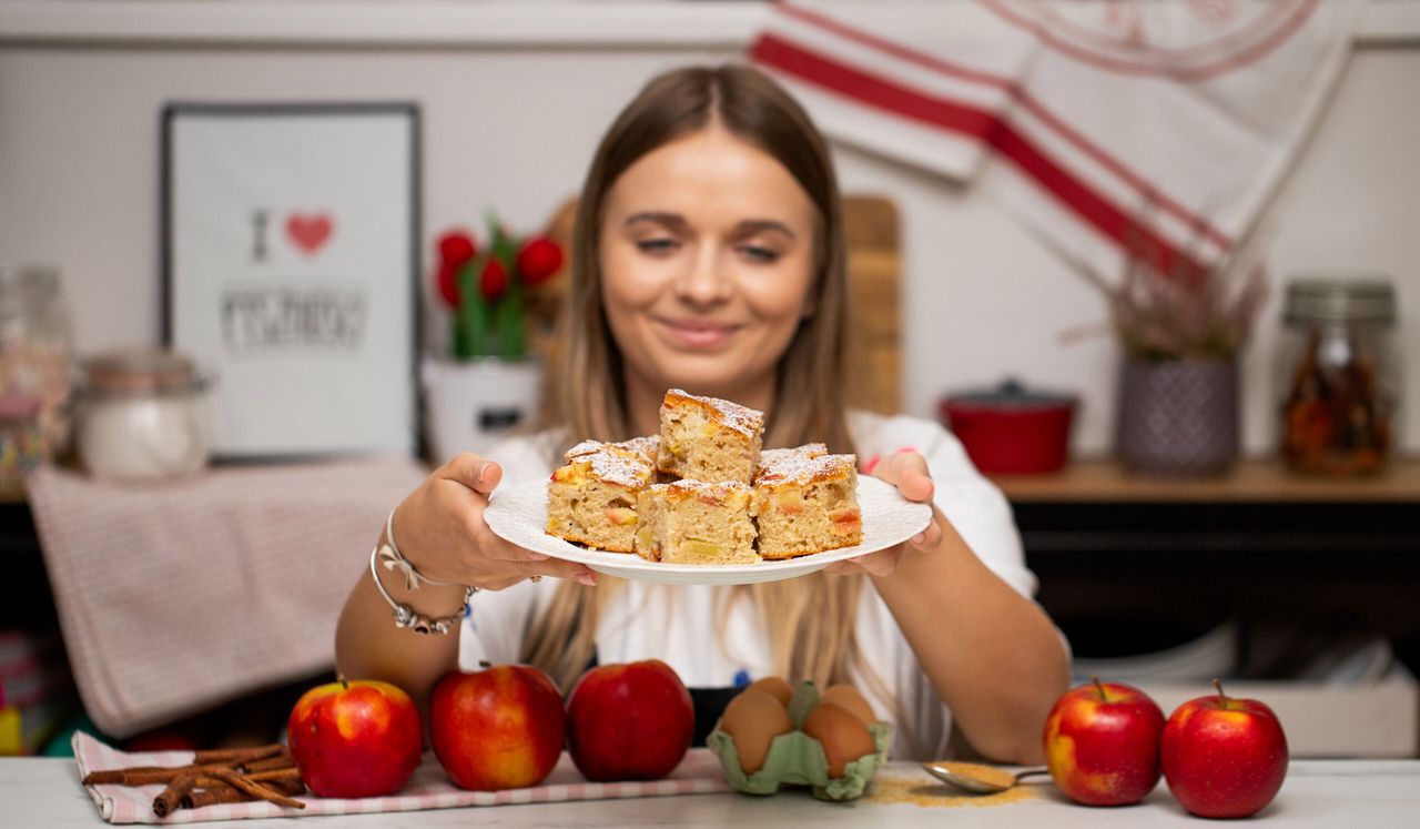
<svg viewBox="0 0 1420 829">
<path fill-rule="evenodd" d="M 659 659 L 582 674 L 567 704 L 567 748 L 589 781 L 653 781 L 690 748 L 690 691 Z"/>
</svg>

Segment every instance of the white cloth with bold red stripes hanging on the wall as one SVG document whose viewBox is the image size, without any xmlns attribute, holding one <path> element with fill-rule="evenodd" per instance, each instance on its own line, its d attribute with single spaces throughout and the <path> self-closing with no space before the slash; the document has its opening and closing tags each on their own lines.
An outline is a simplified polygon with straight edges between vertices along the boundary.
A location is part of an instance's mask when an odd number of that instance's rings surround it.
<svg viewBox="0 0 1420 829">
<path fill-rule="evenodd" d="M 1346 58 L 1358 0 L 795 0 L 750 58 L 829 136 L 978 187 L 1116 273 L 1235 247 Z M 1000 173 L 997 173 L 1000 170 Z"/>
</svg>

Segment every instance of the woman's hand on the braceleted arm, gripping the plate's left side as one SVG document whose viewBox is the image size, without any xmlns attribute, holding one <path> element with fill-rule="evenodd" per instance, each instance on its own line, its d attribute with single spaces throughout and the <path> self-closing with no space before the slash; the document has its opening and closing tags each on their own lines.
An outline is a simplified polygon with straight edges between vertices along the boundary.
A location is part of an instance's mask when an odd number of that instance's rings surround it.
<svg viewBox="0 0 1420 829">
<path fill-rule="evenodd" d="M 440 582 L 501 591 L 531 576 L 595 585 L 585 565 L 534 552 L 497 537 L 483 520 L 503 480 L 497 463 L 473 453 L 436 468 L 395 511 L 399 552 L 422 575 Z"/>
</svg>

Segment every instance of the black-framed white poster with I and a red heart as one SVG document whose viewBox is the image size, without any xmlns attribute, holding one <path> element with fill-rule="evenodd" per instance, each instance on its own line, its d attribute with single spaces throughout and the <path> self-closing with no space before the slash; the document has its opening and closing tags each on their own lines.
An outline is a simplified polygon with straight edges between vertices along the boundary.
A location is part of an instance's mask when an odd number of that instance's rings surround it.
<svg viewBox="0 0 1420 829">
<path fill-rule="evenodd" d="M 163 342 L 212 372 L 219 457 L 412 454 L 419 111 L 163 109 Z"/>
</svg>

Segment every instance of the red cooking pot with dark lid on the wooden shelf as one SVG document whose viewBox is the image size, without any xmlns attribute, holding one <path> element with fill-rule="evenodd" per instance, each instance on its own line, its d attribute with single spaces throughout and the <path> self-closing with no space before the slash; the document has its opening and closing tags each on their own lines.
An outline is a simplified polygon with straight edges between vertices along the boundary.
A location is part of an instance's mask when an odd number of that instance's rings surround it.
<svg viewBox="0 0 1420 829">
<path fill-rule="evenodd" d="M 991 390 L 949 395 L 941 422 L 984 473 L 1052 473 L 1069 454 L 1074 395 L 1027 390 L 1005 380 Z"/>
</svg>

